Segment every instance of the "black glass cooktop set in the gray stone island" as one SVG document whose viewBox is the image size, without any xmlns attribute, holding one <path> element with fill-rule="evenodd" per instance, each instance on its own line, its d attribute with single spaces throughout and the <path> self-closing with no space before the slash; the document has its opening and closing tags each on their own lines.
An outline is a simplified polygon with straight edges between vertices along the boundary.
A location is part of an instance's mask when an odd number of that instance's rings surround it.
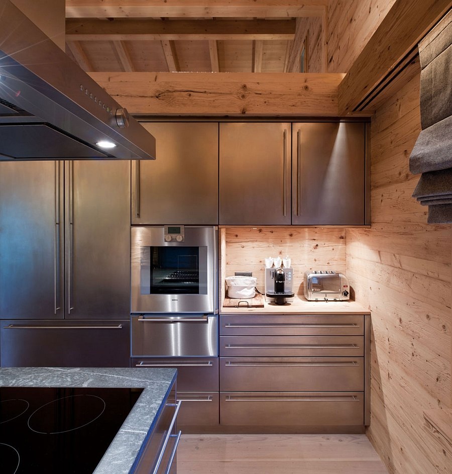
<svg viewBox="0 0 452 474">
<path fill-rule="evenodd" d="M 91 474 L 141 392 L 0 387 L 0 471 Z"/>
</svg>

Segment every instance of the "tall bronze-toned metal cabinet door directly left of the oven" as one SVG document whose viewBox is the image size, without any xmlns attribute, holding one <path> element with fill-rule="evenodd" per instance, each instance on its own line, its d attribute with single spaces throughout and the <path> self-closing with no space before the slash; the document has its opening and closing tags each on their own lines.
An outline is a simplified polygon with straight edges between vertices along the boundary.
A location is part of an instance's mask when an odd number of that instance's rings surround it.
<svg viewBox="0 0 452 474">
<path fill-rule="evenodd" d="M 66 318 L 130 317 L 130 161 L 65 167 Z"/>
</svg>

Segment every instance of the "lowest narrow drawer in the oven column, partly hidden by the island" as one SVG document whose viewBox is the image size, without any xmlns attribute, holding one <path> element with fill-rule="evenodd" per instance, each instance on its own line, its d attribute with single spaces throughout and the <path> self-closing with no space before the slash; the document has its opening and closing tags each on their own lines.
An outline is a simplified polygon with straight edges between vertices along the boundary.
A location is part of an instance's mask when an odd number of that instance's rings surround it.
<svg viewBox="0 0 452 474">
<path fill-rule="evenodd" d="M 218 392 L 177 392 L 182 405 L 177 415 L 177 426 L 184 433 L 190 426 L 218 426 Z"/>
</svg>

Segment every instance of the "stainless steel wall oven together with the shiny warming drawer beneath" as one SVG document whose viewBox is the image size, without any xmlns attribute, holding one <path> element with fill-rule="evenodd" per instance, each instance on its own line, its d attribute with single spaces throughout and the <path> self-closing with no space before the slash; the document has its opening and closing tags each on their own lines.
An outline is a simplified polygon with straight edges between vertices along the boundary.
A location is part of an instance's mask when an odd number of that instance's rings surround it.
<svg viewBox="0 0 452 474">
<path fill-rule="evenodd" d="M 217 228 L 131 232 L 132 357 L 217 355 Z"/>
</svg>

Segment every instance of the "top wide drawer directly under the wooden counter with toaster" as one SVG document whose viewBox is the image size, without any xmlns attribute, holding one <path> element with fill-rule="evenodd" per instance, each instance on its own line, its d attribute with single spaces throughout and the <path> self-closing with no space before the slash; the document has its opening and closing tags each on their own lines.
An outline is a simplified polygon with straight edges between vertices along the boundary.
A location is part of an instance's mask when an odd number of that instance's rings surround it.
<svg viewBox="0 0 452 474">
<path fill-rule="evenodd" d="M 361 336 L 364 316 L 220 315 L 221 336 Z"/>
</svg>

